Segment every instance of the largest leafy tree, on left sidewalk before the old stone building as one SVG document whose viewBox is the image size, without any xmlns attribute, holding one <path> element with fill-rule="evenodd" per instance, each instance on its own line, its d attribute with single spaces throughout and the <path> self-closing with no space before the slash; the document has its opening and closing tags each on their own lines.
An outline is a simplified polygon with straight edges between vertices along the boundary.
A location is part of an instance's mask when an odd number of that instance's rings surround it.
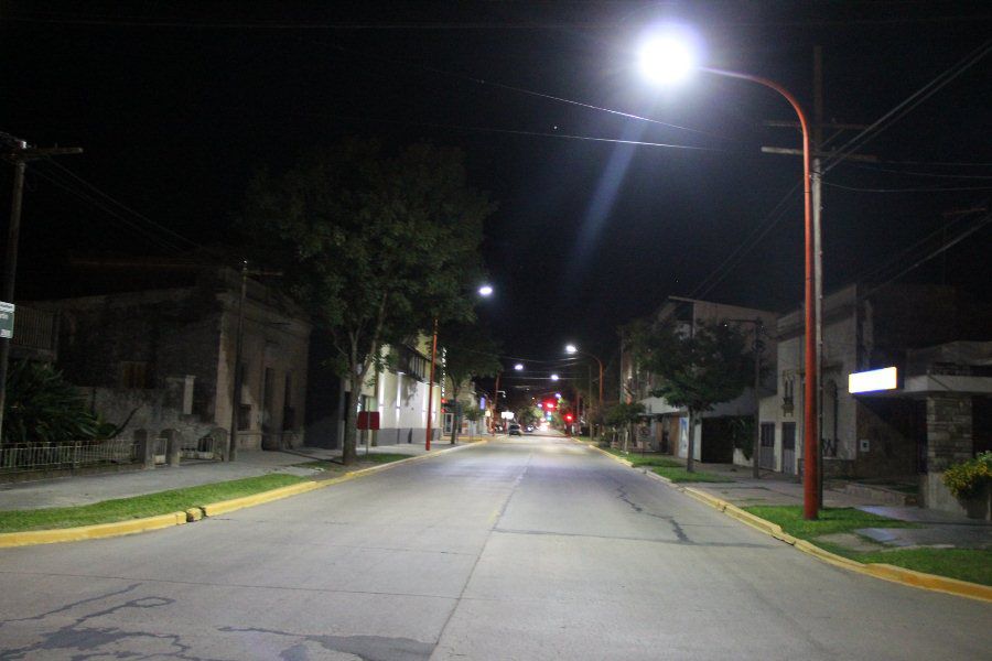
<svg viewBox="0 0 992 661">
<path fill-rule="evenodd" d="M 239 225 L 330 335 L 330 364 L 357 398 L 382 346 L 433 319 L 474 317 L 464 292 L 481 272 L 482 224 L 494 208 L 467 185 L 456 150 L 417 144 L 389 155 L 349 139 L 281 176 L 256 176 Z M 345 464 L 356 460 L 356 418 L 347 407 Z"/>
</svg>

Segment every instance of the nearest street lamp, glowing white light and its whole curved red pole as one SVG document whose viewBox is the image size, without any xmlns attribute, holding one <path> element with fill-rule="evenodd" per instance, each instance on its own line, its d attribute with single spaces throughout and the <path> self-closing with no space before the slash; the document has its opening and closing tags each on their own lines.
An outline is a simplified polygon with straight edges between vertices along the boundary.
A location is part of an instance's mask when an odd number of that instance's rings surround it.
<svg viewBox="0 0 992 661">
<path fill-rule="evenodd" d="M 802 432 L 802 516 L 805 519 L 816 519 L 819 507 L 818 494 L 818 462 L 819 455 L 819 432 L 817 430 L 817 344 L 816 344 L 816 301 L 813 291 L 813 227 L 812 227 L 812 188 L 810 185 L 810 166 L 809 166 L 809 126 L 802 107 L 792 94 L 774 80 L 754 76 L 752 74 L 742 74 L 738 72 L 729 72 L 724 69 L 711 68 L 697 65 L 698 50 L 688 39 L 679 39 L 673 32 L 667 32 L 648 41 L 640 53 L 640 67 L 645 74 L 656 80 L 662 83 L 677 82 L 684 78 L 692 69 L 724 76 L 727 78 L 737 78 L 740 80 L 750 80 L 764 85 L 774 89 L 785 99 L 796 111 L 799 117 L 799 127 L 802 130 L 802 196 L 804 196 L 804 215 L 805 215 L 805 305 L 806 305 L 806 386 L 804 390 L 804 432 Z"/>
</svg>

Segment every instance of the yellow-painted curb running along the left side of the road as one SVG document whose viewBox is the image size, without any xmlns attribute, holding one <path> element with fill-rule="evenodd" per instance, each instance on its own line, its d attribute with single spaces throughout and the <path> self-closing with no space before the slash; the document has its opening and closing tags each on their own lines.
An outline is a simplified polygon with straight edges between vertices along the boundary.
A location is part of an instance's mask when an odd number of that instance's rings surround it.
<svg viewBox="0 0 992 661">
<path fill-rule="evenodd" d="M 52 530 L 3 532 L 0 533 L 0 549 L 14 546 L 33 546 L 36 544 L 55 544 L 61 542 L 79 542 L 84 540 L 99 540 L 106 538 L 123 537 L 128 534 L 137 534 L 139 532 L 149 532 L 152 530 L 162 530 L 163 528 L 173 528 L 175 525 L 185 525 L 186 523 L 193 523 L 209 517 L 217 517 L 247 507 L 265 505 L 267 502 L 289 498 L 290 496 L 298 496 L 300 494 L 306 494 L 308 491 L 323 489 L 324 487 L 330 487 L 332 485 L 348 481 L 358 477 L 365 477 L 366 475 L 371 475 L 373 473 L 387 470 L 395 466 L 399 466 L 400 464 L 409 464 L 412 462 L 429 459 L 431 457 L 438 456 L 439 454 L 454 452 L 456 449 L 463 449 L 465 447 L 473 447 L 474 445 L 483 444 L 486 442 L 487 441 L 483 438 L 482 441 L 476 441 L 471 444 L 445 447 L 444 449 L 439 449 L 436 453 L 412 456 L 406 459 L 390 462 L 388 464 L 379 464 L 378 466 L 369 466 L 368 468 L 363 468 L 360 470 L 352 470 L 345 473 L 339 477 L 326 480 L 304 481 L 295 485 L 290 485 L 288 487 L 280 487 L 278 489 L 272 489 L 269 491 L 252 494 L 251 496 L 244 496 L 241 498 L 233 498 L 230 500 L 222 500 L 219 502 L 212 502 L 209 505 L 192 507 L 183 512 L 171 512 L 168 514 L 158 514 L 155 517 L 145 517 L 143 519 L 115 521 L 112 523 L 95 523 L 93 525 L 80 525 L 77 528 L 56 528 Z"/>
</svg>

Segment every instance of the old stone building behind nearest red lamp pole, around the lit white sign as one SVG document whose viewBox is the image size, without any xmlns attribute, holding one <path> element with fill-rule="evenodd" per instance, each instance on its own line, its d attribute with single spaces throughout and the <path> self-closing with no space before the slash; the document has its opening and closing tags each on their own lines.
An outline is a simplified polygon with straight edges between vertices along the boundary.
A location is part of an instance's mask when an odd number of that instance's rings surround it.
<svg viewBox="0 0 992 661">
<path fill-rule="evenodd" d="M 852 284 L 822 308 L 824 476 L 918 478 L 928 503 L 947 500 L 935 486 L 939 474 L 990 443 L 988 432 L 971 432 L 972 420 L 989 419 L 989 308 L 952 288 L 914 284 Z M 762 465 L 795 475 L 802 459 L 802 319 L 801 310 L 779 318 L 777 392 L 761 403 Z M 848 391 L 851 373 L 889 367 L 899 375 L 895 388 Z"/>
</svg>

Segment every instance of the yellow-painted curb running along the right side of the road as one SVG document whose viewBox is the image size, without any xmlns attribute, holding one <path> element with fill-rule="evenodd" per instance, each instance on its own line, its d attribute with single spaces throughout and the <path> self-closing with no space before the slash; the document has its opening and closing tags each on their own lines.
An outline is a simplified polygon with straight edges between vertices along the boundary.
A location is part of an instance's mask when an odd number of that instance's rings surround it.
<svg viewBox="0 0 992 661">
<path fill-rule="evenodd" d="M 630 462 L 623 459 L 612 453 L 608 453 L 600 447 L 594 445 L 589 445 L 583 443 L 587 447 L 595 449 L 596 452 L 604 454 L 616 462 L 624 464 L 626 466 L 633 466 Z M 955 595 L 958 597 L 967 597 L 969 599 L 978 599 L 980 602 L 992 602 L 992 586 L 981 585 L 978 583 L 969 583 L 967 581 L 959 581 L 957 578 L 948 578 L 947 576 L 937 576 L 936 574 L 925 574 L 923 572 L 916 572 L 914 570 L 906 570 L 903 567 L 897 567 L 895 565 L 882 564 L 882 563 L 862 563 L 856 560 L 851 560 L 844 557 L 842 555 L 838 555 L 835 553 L 831 553 L 824 549 L 817 546 L 816 544 L 808 542 L 806 540 L 800 540 L 785 532 L 780 525 L 777 523 L 773 523 L 772 521 L 767 521 L 762 519 L 761 517 L 756 517 L 748 511 L 741 509 L 740 507 L 730 503 L 725 500 L 716 498 L 715 496 L 711 496 L 705 491 L 700 489 L 694 489 L 692 487 L 682 487 L 676 485 L 670 479 L 661 477 L 660 475 L 645 469 L 644 475 L 648 477 L 653 477 L 658 479 L 665 484 L 667 484 L 672 489 L 677 491 L 681 491 L 686 496 L 693 498 L 694 500 L 699 500 L 700 502 L 708 505 L 715 509 L 716 511 L 723 512 L 727 517 L 734 518 L 742 523 L 754 528 L 755 530 L 763 532 L 769 537 L 773 537 L 779 541 L 783 541 L 797 550 L 806 553 L 807 555 L 812 555 L 820 562 L 824 562 L 827 564 L 833 565 L 835 567 L 840 567 L 843 570 L 848 570 L 851 572 L 856 572 L 859 574 L 865 574 L 867 576 L 874 576 L 875 578 L 881 578 L 883 581 L 888 581 L 891 583 L 899 583 L 902 585 L 908 585 L 910 587 L 917 587 L 920 589 L 928 589 L 931 592 L 945 593 L 948 595 Z"/>
</svg>

